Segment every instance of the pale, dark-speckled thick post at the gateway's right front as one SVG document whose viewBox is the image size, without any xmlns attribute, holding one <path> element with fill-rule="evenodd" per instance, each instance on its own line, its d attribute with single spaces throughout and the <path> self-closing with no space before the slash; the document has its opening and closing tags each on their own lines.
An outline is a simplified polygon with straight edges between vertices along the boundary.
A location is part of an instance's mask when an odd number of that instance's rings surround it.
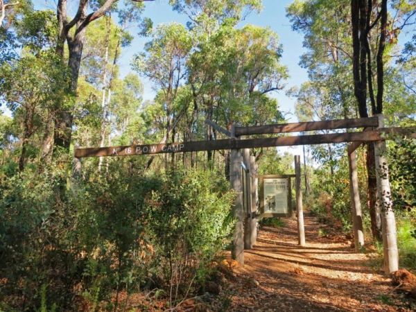
<svg viewBox="0 0 416 312">
<path fill-rule="evenodd" d="M 378 114 L 379 128 L 384 126 L 383 114 Z M 381 208 L 381 228 L 383 231 L 383 257 L 386 274 L 399 270 L 399 252 L 397 250 L 397 232 L 395 213 L 388 172 L 387 149 L 385 141 L 374 142 L 376 163 L 377 205 Z"/>
</svg>

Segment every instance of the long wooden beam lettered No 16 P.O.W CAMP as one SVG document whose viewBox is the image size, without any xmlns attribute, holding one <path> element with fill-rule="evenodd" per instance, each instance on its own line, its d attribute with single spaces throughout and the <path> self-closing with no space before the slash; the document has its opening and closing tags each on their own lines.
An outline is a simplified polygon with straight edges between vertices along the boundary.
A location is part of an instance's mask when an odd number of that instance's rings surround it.
<svg viewBox="0 0 416 312">
<path fill-rule="evenodd" d="M 75 157 L 130 156 L 163 153 L 196 152 L 200 150 L 231 150 L 272 146 L 370 142 L 388 139 L 385 135 L 408 135 L 416 138 L 416 127 L 381 128 L 365 132 L 330 133 L 327 135 L 301 135 L 297 137 L 268 137 L 257 139 L 221 139 L 173 144 L 147 144 L 111 146 L 103 148 L 76 148 Z"/>
</svg>

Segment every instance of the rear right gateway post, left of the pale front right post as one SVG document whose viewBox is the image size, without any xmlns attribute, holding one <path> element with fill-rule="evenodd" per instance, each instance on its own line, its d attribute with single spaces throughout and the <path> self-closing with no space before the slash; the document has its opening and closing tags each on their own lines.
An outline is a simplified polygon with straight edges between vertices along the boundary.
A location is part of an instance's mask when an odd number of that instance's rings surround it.
<svg viewBox="0 0 416 312">
<path fill-rule="evenodd" d="M 363 215 L 361 213 L 360 193 L 358 189 L 357 154 L 355 150 L 348 153 L 349 191 L 351 194 L 352 226 L 354 229 L 355 250 L 358 252 L 364 245 Z"/>
</svg>

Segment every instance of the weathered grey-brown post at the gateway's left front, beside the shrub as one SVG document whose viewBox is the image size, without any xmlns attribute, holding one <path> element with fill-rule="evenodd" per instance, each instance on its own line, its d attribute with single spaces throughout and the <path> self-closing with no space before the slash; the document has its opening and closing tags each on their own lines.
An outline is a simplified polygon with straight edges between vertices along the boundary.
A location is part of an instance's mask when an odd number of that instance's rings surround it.
<svg viewBox="0 0 416 312">
<path fill-rule="evenodd" d="M 234 136 L 234 126 L 232 127 L 232 134 Z M 235 259 L 244 265 L 244 205 L 243 205 L 243 179 L 241 162 L 243 157 L 239 150 L 231 150 L 231 157 L 229 159 L 229 180 L 231 187 L 236 193 L 234 200 L 233 213 L 236 218 L 236 225 L 234 228 L 234 237 L 232 242 L 232 259 Z"/>
</svg>

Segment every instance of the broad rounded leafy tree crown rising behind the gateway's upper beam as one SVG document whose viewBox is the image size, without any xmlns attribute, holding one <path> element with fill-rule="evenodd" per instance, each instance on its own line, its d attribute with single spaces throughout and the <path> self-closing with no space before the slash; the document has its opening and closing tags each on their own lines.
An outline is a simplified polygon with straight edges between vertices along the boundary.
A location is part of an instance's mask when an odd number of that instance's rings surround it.
<svg viewBox="0 0 416 312">
<path fill-rule="evenodd" d="M 198 42 L 189 60 L 194 109 L 225 128 L 277 121 L 277 101 L 268 94 L 281 89 L 287 77 L 280 56 L 281 45 L 269 28 L 236 29 L 234 21 L 225 22 Z M 205 139 L 216 135 L 207 128 Z"/>
</svg>

